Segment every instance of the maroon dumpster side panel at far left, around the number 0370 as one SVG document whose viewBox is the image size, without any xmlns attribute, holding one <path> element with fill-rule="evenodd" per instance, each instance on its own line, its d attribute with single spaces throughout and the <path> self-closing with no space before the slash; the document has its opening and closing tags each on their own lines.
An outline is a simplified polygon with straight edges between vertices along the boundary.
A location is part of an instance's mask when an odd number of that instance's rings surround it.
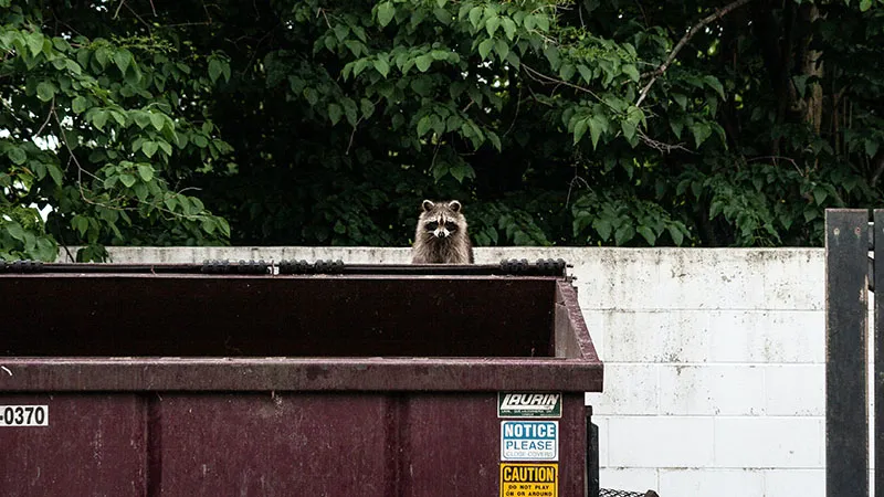
<svg viewBox="0 0 884 497">
<path fill-rule="evenodd" d="M 0 495 L 145 495 L 143 404 L 134 394 L 0 394 L 0 405 L 49 406 L 49 426 L 0 427 Z"/>
</svg>

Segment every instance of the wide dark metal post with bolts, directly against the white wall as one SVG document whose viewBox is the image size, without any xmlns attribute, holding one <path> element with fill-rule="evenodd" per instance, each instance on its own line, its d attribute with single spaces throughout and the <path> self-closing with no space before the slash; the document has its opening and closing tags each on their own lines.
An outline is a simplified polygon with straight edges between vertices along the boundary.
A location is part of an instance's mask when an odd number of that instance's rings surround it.
<svg viewBox="0 0 884 497">
<path fill-rule="evenodd" d="M 825 211 L 825 495 L 869 497 L 869 211 Z"/>
</svg>

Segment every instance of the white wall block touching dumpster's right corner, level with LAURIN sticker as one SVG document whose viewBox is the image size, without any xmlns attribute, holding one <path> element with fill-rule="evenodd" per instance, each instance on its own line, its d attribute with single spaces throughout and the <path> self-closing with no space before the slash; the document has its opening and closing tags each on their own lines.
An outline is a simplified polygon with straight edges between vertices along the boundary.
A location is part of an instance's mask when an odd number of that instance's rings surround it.
<svg viewBox="0 0 884 497">
<path fill-rule="evenodd" d="M 588 392 L 586 402 L 598 415 L 656 414 L 657 364 L 604 363 L 604 391 Z"/>
</svg>

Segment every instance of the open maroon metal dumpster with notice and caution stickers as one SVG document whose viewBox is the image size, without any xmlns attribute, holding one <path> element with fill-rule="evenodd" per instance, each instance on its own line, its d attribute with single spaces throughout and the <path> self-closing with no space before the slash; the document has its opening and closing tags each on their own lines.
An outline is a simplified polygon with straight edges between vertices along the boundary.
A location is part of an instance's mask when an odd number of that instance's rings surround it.
<svg viewBox="0 0 884 497">
<path fill-rule="evenodd" d="M 0 263 L 0 302 L 2 496 L 598 488 L 560 262 Z"/>
</svg>

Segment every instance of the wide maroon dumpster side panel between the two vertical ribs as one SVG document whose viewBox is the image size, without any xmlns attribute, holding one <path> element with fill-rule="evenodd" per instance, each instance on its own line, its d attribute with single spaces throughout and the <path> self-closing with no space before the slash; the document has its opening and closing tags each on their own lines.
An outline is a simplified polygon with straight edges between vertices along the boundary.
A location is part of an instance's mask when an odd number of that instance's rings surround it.
<svg viewBox="0 0 884 497">
<path fill-rule="evenodd" d="M 387 400 L 345 394 L 164 394 L 168 496 L 394 495 Z"/>
</svg>

